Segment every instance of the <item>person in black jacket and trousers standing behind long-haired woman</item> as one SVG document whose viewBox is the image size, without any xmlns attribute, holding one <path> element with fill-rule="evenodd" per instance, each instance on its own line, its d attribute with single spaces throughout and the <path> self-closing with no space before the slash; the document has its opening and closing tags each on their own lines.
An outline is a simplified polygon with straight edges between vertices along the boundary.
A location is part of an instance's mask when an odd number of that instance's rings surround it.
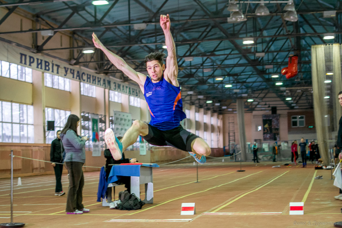
<svg viewBox="0 0 342 228">
<path fill-rule="evenodd" d="M 61 140 L 61 130 L 57 131 L 57 138 L 52 140 L 51 142 L 51 149 L 50 149 L 50 161 L 52 162 L 51 165 L 55 171 L 56 176 L 56 189 L 55 189 L 55 196 L 63 196 L 65 192 L 62 190 L 62 171 L 63 171 L 63 164 L 56 164 L 56 163 L 63 163 L 63 151 L 64 147 Z"/>
</svg>

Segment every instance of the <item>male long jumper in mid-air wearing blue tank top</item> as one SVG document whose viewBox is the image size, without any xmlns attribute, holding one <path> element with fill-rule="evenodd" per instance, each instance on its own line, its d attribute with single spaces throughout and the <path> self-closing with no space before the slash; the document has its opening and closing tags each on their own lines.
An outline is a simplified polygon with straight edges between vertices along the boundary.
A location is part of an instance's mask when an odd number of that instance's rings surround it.
<svg viewBox="0 0 342 228">
<path fill-rule="evenodd" d="M 199 136 L 186 131 L 180 122 L 186 118 L 183 112 L 181 88 L 177 81 L 178 66 L 175 44 L 170 32 L 169 14 L 160 15 L 160 26 L 165 35 L 168 56 L 163 64 L 164 53 L 154 52 L 144 59 L 149 76 L 136 72 L 121 57 L 109 51 L 93 33 L 96 48 L 101 49 L 119 70 L 139 84 L 151 116 L 145 123 L 134 120 L 123 135 L 121 142 L 111 129 L 105 132 L 105 142 L 115 160 L 121 159 L 122 151 L 136 142 L 141 135 L 149 144 L 172 146 L 188 151 L 201 164 L 206 162 L 211 149 Z"/>
</svg>

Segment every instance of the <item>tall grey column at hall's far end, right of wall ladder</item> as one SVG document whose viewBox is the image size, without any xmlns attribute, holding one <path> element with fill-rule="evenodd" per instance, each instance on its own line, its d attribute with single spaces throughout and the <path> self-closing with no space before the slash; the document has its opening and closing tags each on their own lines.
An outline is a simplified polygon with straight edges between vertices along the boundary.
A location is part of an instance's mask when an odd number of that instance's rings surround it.
<svg viewBox="0 0 342 228">
<path fill-rule="evenodd" d="M 246 161 L 247 159 L 247 148 L 246 148 L 246 130 L 245 130 L 245 104 L 244 99 L 237 99 L 237 122 L 239 127 L 239 144 L 241 148 L 241 157 L 242 160 Z"/>
</svg>

